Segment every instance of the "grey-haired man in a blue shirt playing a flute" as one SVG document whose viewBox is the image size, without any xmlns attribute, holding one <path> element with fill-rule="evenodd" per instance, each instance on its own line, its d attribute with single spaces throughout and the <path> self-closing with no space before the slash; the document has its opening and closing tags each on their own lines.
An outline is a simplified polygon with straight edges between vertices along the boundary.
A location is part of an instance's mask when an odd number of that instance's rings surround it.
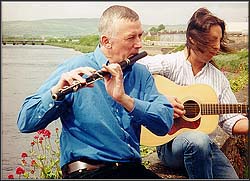
<svg viewBox="0 0 250 181">
<path fill-rule="evenodd" d="M 25 99 L 18 128 L 34 132 L 60 117 L 63 178 L 160 178 L 141 164 L 140 130 L 144 125 L 165 135 L 173 123 L 173 108 L 145 66 L 136 63 L 122 71 L 118 64 L 142 46 L 139 16 L 127 7 L 111 6 L 100 18 L 99 32 L 94 52 L 65 61 Z M 109 75 L 52 99 L 65 86 L 85 84 L 95 70 Z"/>
</svg>

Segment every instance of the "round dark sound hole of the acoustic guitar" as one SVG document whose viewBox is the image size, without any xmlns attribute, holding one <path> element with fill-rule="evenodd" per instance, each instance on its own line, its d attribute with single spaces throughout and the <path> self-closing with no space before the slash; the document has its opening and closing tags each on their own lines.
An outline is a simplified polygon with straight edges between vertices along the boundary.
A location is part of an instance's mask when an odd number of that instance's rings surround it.
<svg viewBox="0 0 250 181">
<path fill-rule="evenodd" d="M 200 112 L 199 104 L 192 100 L 188 100 L 184 103 L 184 109 L 186 110 L 186 114 L 184 116 L 187 118 L 194 118 L 198 116 Z"/>
</svg>

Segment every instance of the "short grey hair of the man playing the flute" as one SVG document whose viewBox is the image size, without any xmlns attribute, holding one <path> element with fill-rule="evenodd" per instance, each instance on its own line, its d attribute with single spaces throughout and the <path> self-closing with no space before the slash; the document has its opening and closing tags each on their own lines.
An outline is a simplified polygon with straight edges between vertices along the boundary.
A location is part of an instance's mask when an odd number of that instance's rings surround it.
<svg viewBox="0 0 250 181">
<path fill-rule="evenodd" d="M 99 21 L 99 35 L 115 36 L 115 25 L 117 21 L 128 20 L 130 22 L 135 22 L 139 20 L 139 15 L 132 9 L 114 5 L 106 9 Z"/>
</svg>

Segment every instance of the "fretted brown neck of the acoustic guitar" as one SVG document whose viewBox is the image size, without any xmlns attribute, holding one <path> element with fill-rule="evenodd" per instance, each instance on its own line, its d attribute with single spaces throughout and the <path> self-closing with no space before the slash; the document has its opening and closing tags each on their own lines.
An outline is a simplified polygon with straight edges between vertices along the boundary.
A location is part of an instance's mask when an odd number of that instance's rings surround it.
<svg viewBox="0 0 250 181">
<path fill-rule="evenodd" d="M 249 107 L 244 104 L 201 104 L 202 115 L 248 113 Z"/>
</svg>

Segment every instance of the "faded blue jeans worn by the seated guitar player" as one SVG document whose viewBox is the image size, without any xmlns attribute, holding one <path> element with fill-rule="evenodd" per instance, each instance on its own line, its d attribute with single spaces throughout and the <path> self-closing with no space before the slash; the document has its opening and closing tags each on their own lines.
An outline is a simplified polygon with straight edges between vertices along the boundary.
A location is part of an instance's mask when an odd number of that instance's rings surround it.
<svg viewBox="0 0 250 181">
<path fill-rule="evenodd" d="M 191 179 L 238 179 L 230 161 L 200 131 L 188 131 L 173 141 L 157 146 L 159 159 L 169 168 L 185 169 Z"/>
</svg>

